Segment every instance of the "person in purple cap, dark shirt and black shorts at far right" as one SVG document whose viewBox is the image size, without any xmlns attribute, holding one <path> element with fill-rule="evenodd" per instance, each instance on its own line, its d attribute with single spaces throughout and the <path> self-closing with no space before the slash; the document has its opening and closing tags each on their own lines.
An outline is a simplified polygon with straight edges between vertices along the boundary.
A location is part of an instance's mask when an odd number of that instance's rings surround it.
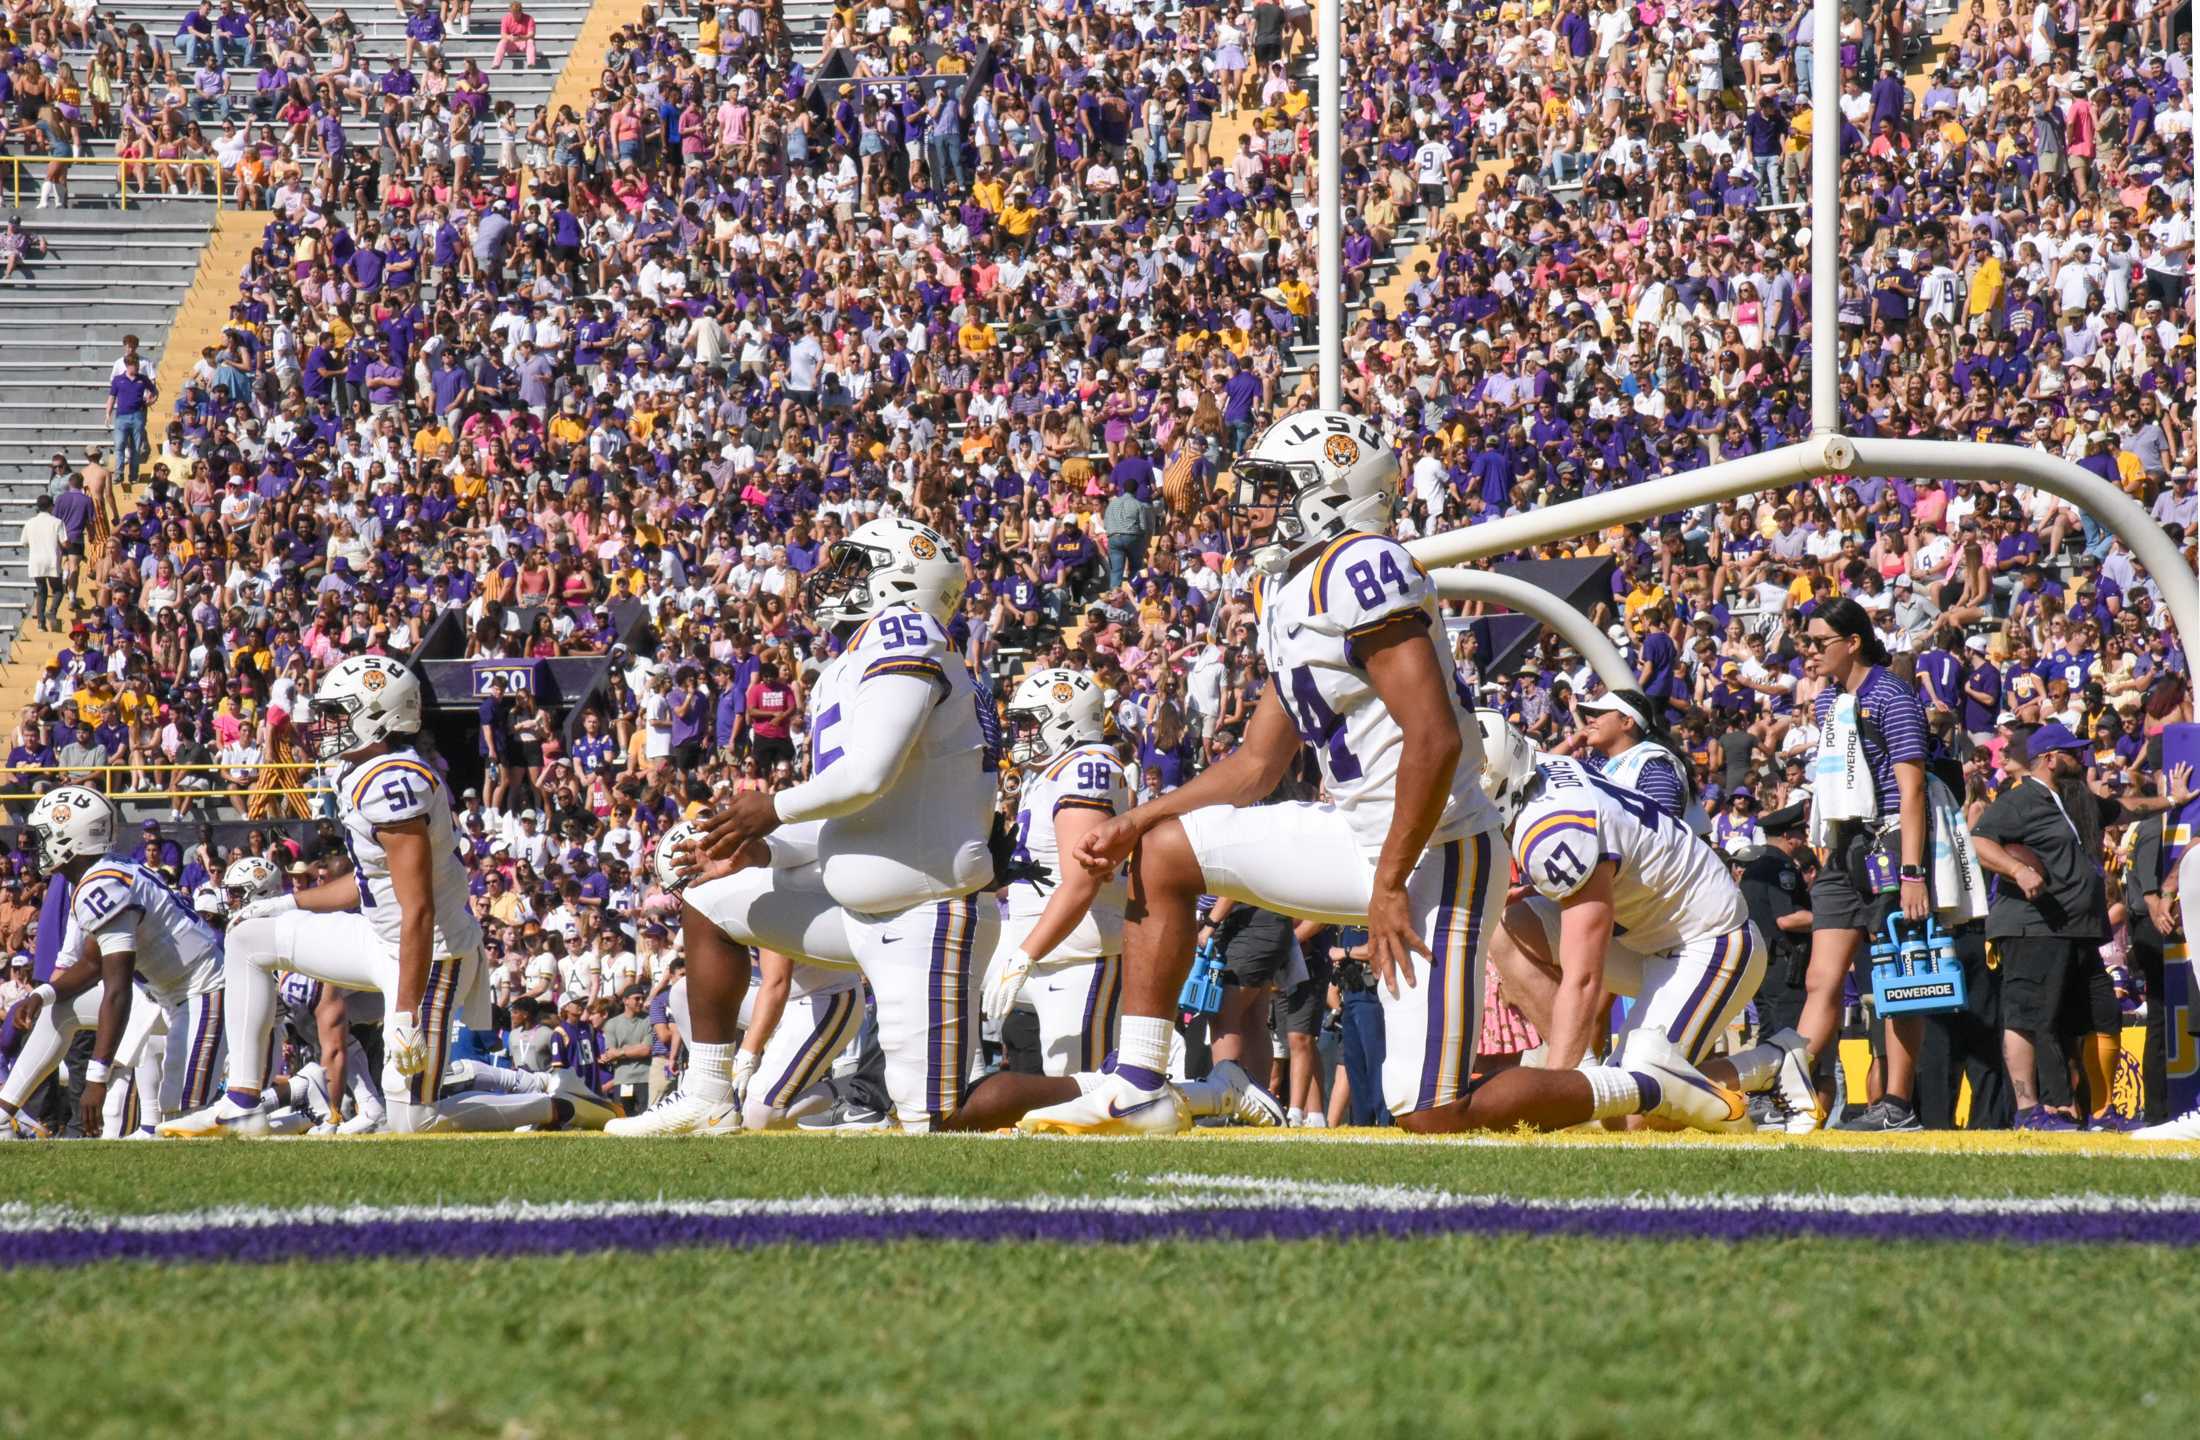
<svg viewBox="0 0 2200 1440">
<path fill-rule="evenodd" d="M 2000 877 L 1987 910 L 1987 939 L 2002 954 L 2002 1062 L 2017 1104 L 2017 1130 L 2077 1130 L 2039 1104 L 2037 1038 L 2090 1035 L 2097 1126 L 2116 1128 L 2108 1110 L 2123 1013 L 2101 965 L 2108 939 L 2108 882 L 2101 873 L 2101 829 L 2180 805 L 2191 769 L 2171 774 L 2174 798 L 2110 800 L 2075 785 L 2090 745 L 2059 721 L 2011 736 L 2015 785 L 1971 827 L 1978 864 Z M 2024 846 L 2011 851 L 2009 846 Z M 2072 1088 L 2077 1088 L 2072 1084 Z"/>
</svg>

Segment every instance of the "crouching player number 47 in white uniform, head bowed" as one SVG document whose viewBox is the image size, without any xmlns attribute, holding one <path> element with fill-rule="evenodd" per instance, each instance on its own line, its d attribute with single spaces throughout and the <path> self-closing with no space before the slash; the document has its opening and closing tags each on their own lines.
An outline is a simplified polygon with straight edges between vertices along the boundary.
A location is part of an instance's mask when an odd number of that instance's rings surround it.
<svg viewBox="0 0 2200 1440">
<path fill-rule="evenodd" d="M 1632 996 L 1615 1064 L 1696 1066 L 1727 1090 L 1771 1090 L 1817 1126 L 1802 1035 L 1780 1031 L 1714 1057 L 1764 981 L 1764 939 L 1727 862 L 1650 796 L 1580 761 L 1538 756 L 1494 710 L 1478 712 L 1489 791 L 1511 827 L 1520 884 L 1494 959 L 1507 996 L 1542 1031 L 1551 1068 L 1595 1060 L 1602 994 Z M 1624 939 L 1621 939 L 1624 937 Z"/>
</svg>

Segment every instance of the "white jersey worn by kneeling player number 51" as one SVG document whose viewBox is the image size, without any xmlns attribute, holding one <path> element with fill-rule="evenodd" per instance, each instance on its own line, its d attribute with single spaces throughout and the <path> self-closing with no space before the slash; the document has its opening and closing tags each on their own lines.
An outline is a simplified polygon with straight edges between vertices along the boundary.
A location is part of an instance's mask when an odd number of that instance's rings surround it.
<svg viewBox="0 0 2200 1440">
<path fill-rule="evenodd" d="M 466 906 L 466 866 L 458 857 L 451 824 L 451 791 L 442 776 L 411 750 L 392 750 L 372 761 L 345 765 L 337 776 L 337 818 L 343 849 L 359 875 L 359 910 L 392 950 L 398 945 L 400 915 L 389 884 L 389 855 L 378 831 L 407 820 L 427 820 L 429 886 L 436 899 L 436 954 L 466 956 L 482 950 L 482 926 Z"/>
</svg>

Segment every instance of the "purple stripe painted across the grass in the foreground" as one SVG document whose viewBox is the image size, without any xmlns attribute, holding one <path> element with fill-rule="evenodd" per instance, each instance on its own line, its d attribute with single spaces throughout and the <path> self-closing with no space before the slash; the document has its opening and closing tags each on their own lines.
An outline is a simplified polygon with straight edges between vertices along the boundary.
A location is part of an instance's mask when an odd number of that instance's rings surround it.
<svg viewBox="0 0 2200 1440">
<path fill-rule="evenodd" d="M 592 1220 L 365 1220 L 189 1233 L 53 1229 L 0 1233 L 0 1269 L 112 1260 L 277 1264 L 286 1260 L 477 1260 L 680 1247 L 878 1244 L 893 1240 L 1142 1244 L 1155 1240 L 1412 1240 L 1430 1236 L 1593 1240 L 1910 1240 L 1969 1244 L 2200 1244 L 2200 1214 L 1797 1214 L 1745 1209 L 1540 1209 L 1445 1205 L 1111 1211 L 979 1209 L 849 1216 L 616 1216 Z"/>
</svg>

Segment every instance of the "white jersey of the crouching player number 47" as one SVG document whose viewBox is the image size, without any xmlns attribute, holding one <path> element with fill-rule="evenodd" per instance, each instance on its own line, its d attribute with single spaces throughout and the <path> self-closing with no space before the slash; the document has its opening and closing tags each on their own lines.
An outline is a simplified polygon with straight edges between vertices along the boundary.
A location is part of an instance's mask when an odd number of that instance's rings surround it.
<svg viewBox="0 0 2200 1440">
<path fill-rule="evenodd" d="M 1549 899 L 1582 888 L 1599 862 L 1613 877 L 1613 932 L 1641 954 L 1705 941 L 1749 923 L 1727 862 L 1646 796 L 1580 761 L 1549 758 L 1514 822 L 1520 877 Z"/>
</svg>

